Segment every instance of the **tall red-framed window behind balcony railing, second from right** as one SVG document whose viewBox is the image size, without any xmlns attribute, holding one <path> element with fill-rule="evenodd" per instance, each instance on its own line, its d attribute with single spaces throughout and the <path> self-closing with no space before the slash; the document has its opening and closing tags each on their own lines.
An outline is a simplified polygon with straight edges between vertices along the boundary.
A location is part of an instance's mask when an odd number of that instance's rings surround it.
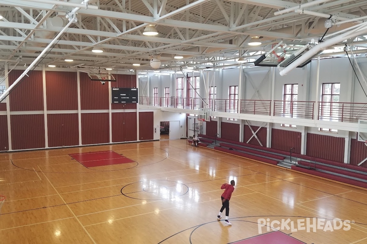
<svg viewBox="0 0 367 244">
<path fill-rule="evenodd" d="M 283 115 L 285 117 L 297 117 L 298 84 L 284 85 Z M 295 125 L 281 124 L 283 127 L 296 128 Z"/>
</svg>

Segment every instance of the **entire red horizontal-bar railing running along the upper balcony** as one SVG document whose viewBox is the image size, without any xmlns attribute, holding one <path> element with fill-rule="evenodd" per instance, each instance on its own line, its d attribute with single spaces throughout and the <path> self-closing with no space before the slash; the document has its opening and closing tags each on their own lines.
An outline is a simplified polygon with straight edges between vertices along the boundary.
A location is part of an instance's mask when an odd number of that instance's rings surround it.
<svg viewBox="0 0 367 244">
<path fill-rule="evenodd" d="M 206 101 L 206 100 L 204 100 Z M 357 122 L 367 120 L 367 103 L 351 102 L 319 102 L 315 108 L 313 101 L 280 101 L 272 104 L 270 100 L 230 100 L 214 99 L 206 104 L 200 98 L 185 97 L 139 97 L 139 104 L 170 108 L 193 109 L 210 108 L 215 112 L 243 113 L 252 115 L 314 119 L 315 109 L 318 109 L 317 119 L 327 121 Z"/>
</svg>

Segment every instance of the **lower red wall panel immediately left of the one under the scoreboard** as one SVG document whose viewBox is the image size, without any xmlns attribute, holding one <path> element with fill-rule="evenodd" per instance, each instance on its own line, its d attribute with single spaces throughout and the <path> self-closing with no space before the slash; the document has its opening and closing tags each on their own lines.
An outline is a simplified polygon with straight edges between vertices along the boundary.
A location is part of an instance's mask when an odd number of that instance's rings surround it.
<svg viewBox="0 0 367 244">
<path fill-rule="evenodd" d="M 108 113 L 81 114 L 81 143 L 100 144 L 110 142 Z"/>
</svg>

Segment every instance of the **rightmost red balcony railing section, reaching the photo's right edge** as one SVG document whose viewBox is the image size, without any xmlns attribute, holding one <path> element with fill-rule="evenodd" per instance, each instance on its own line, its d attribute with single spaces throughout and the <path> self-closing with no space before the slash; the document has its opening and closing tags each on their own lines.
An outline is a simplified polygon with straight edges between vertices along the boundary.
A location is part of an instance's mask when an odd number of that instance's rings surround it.
<svg viewBox="0 0 367 244">
<path fill-rule="evenodd" d="M 367 103 L 320 102 L 318 120 L 357 122 L 367 119 Z"/>
</svg>

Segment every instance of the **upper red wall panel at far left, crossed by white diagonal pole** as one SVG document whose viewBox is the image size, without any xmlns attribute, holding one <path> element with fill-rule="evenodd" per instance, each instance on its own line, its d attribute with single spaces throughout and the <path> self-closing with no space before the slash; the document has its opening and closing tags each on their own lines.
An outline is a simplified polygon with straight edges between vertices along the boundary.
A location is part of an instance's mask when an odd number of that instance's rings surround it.
<svg viewBox="0 0 367 244">
<path fill-rule="evenodd" d="M 10 72 L 9 85 L 23 73 L 23 70 Z M 10 111 L 40 111 L 43 110 L 43 78 L 42 71 L 33 70 L 28 76 L 11 90 L 9 97 Z"/>
</svg>

